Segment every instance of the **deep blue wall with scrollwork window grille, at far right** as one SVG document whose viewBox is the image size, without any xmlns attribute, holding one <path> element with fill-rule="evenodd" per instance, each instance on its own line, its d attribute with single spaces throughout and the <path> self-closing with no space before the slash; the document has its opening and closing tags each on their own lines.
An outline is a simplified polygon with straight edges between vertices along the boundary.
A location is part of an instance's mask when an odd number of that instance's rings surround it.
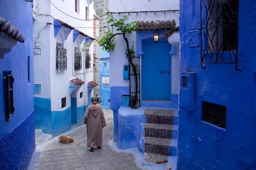
<svg viewBox="0 0 256 170">
<path fill-rule="evenodd" d="M 215 167 L 205 169 L 256 169 L 255 7 L 255 0 L 239 1 L 241 70 L 234 64 L 206 64 L 201 69 L 200 46 L 189 47 L 189 31 L 200 31 L 200 0 L 180 0 L 180 72 L 195 72 L 195 103 L 194 111 L 179 110 L 177 169 L 200 169 L 204 165 L 196 157 L 211 157 Z M 202 121 L 202 101 L 227 107 L 225 129 Z M 197 134 L 208 134 L 209 145 L 198 145 Z"/>
</svg>

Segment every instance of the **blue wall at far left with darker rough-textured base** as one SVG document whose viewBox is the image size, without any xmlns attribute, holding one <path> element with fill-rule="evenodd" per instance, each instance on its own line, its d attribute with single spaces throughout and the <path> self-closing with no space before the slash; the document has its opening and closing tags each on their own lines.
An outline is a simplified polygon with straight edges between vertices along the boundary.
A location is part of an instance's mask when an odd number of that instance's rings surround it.
<svg viewBox="0 0 256 170">
<path fill-rule="evenodd" d="M 0 2 L 0 16 L 8 20 L 24 36 L 5 57 L 0 59 L 0 169 L 26 170 L 36 148 L 34 127 L 34 68 L 32 40 L 32 5 L 26 0 Z M 6 36 L 6 35 L 4 35 Z M 0 50 L 3 50 L 2 48 Z M 28 83 L 28 56 L 29 74 Z M 3 72 L 13 75 L 15 112 L 5 121 Z"/>
</svg>

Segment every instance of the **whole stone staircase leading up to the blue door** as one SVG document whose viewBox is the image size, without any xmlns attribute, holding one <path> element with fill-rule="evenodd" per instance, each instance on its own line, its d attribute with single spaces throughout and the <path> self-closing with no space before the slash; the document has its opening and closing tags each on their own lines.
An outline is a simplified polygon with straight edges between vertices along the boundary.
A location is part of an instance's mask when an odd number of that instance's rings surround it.
<svg viewBox="0 0 256 170">
<path fill-rule="evenodd" d="M 144 115 L 147 119 L 144 123 L 144 161 L 151 163 L 174 161 L 175 164 L 177 162 L 177 112 L 146 109 Z"/>
</svg>

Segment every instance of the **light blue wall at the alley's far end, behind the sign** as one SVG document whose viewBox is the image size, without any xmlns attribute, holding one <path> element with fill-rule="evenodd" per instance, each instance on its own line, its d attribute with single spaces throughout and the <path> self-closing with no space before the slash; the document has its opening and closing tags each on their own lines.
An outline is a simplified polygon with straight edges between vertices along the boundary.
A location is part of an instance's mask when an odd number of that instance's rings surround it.
<svg viewBox="0 0 256 170">
<path fill-rule="evenodd" d="M 110 63 L 109 63 L 109 52 L 103 50 L 101 47 L 99 49 L 99 58 L 100 58 L 100 80 L 102 80 L 102 77 L 109 77 L 109 69 L 110 69 Z M 105 64 L 106 63 L 106 67 Z M 110 84 L 107 84 L 108 87 L 104 86 L 102 81 L 100 82 L 100 89 L 101 89 L 101 106 L 104 109 L 110 109 Z"/>
</svg>

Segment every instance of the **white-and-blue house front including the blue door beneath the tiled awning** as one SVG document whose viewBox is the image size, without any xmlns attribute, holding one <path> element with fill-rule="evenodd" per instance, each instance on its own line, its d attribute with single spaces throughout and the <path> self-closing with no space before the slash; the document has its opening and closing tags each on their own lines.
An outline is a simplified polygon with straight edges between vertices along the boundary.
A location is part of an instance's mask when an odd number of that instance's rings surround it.
<svg viewBox="0 0 256 170">
<path fill-rule="evenodd" d="M 118 142 L 119 148 L 127 149 L 138 146 L 141 114 L 146 107 L 178 107 L 180 42 L 178 38 L 177 42 L 171 44 L 168 38 L 164 39 L 164 35 L 180 25 L 180 4 L 179 0 L 109 0 L 108 7 L 109 14 L 114 18 L 119 19 L 126 15 L 128 22 L 137 20 L 143 27 L 126 35 L 130 47 L 133 45 L 136 52 L 138 63 L 135 64 L 141 73 L 138 78 L 138 107 L 141 107 L 137 110 L 127 111 L 127 107 L 122 107 L 123 97 L 131 94 L 130 81 L 124 78 L 125 66 L 129 65 L 129 61 L 125 54 L 126 42 L 123 36 L 115 36 L 115 49 L 110 51 L 110 106 L 114 113 L 114 141 Z M 163 29 L 155 29 L 155 25 L 163 25 Z M 146 29 L 146 26 L 149 27 Z M 113 34 L 118 32 L 112 27 L 109 29 Z M 157 43 L 153 38 L 155 33 L 159 34 Z M 122 112 L 125 113 L 124 119 Z M 135 114 L 138 116 L 136 119 L 133 117 Z M 125 120 L 129 120 L 129 126 L 136 127 L 132 133 L 124 131 L 128 126 Z M 137 124 L 134 120 L 138 120 Z"/>
</svg>

